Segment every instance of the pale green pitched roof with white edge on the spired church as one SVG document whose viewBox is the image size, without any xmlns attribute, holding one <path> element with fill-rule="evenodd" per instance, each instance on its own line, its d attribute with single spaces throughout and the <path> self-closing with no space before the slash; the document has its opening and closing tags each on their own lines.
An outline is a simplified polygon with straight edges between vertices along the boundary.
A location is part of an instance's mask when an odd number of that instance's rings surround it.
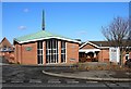
<svg viewBox="0 0 131 89">
<path fill-rule="evenodd" d="M 56 38 L 56 39 L 62 39 L 62 40 L 68 40 L 68 41 L 73 41 L 73 42 L 79 42 L 78 40 L 74 39 L 70 39 L 60 35 L 55 35 L 51 34 L 49 31 L 46 30 L 40 30 L 38 33 L 35 34 L 31 34 L 31 35 L 26 35 L 26 36 L 22 36 L 22 37 L 17 37 L 14 38 L 14 41 L 17 41 L 19 43 L 24 43 L 24 42 L 31 42 L 31 41 L 37 41 L 37 40 L 44 40 L 44 39 L 51 39 L 51 38 Z"/>
</svg>

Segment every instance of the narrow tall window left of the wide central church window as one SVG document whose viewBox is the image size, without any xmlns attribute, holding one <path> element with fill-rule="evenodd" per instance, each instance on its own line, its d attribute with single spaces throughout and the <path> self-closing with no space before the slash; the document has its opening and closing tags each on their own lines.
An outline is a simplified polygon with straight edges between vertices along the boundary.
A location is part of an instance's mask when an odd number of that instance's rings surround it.
<svg viewBox="0 0 131 89">
<path fill-rule="evenodd" d="M 37 42 L 37 63 L 43 64 L 43 41 Z"/>
</svg>

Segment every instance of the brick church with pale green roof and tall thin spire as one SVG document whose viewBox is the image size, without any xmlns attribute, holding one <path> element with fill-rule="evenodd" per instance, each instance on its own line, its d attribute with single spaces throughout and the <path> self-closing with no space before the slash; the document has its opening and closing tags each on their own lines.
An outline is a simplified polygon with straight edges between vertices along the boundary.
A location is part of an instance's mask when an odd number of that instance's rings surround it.
<svg viewBox="0 0 131 89">
<path fill-rule="evenodd" d="M 80 41 L 45 30 L 44 12 L 41 30 L 14 38 L 15 63 L 71 64 L 79 62 Z"/>
</svg>

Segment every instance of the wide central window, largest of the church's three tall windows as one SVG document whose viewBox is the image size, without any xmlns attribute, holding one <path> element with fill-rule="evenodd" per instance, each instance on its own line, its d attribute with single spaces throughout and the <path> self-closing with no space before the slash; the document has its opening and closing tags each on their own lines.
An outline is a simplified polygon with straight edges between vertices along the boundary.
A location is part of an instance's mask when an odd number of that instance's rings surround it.
<svg viewBox="0 0 131 89">
<path fill-rule="evenodd" d="M 58 63 L 58 40 L 46 41 L 46 63 Z"/>
</svg>

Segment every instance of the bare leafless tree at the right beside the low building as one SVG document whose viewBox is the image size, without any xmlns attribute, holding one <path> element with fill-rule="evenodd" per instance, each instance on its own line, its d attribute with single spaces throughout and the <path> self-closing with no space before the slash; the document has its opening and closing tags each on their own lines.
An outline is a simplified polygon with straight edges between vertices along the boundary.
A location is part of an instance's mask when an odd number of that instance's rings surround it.
<svg viewBox="0 0 131 89">
<path fill-rule="evenodd" d="M 130 31 L 129 20 L 119 16 L 115 17 L 107 27 L 102 27 L 102 33 L 110 46 L 120 49 L 120 65 L 123 65 L 122 53 L 129 46 Z"/>
</svg>

